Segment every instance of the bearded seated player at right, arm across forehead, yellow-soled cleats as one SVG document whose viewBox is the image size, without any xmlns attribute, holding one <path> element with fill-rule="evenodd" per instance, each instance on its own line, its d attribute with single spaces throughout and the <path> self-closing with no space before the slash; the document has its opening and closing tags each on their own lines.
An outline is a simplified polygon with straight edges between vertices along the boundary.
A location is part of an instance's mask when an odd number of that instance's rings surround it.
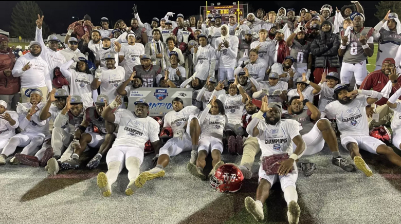
<svg viewBox="0 0 401 224">
<path fill-rule="evenodd" d="M 359 147 L 373 154 L 385 155 L 392 163 L 401 166 L 401 157 L 394 153 L 391 147 L 369 136 L 366 106 L 380 100 L 381 97 L 380 92 L 374 90 L 358 89 L 349 92 L 348 86 L 338 84 L 334 88 L 336 101 L 329 103 L 325 108 L 327 118 L 336 118 L 342 146 L 350 151 L 356 167 L 368 177 L 373 173 L 359 154 Z"/>
</svg>

